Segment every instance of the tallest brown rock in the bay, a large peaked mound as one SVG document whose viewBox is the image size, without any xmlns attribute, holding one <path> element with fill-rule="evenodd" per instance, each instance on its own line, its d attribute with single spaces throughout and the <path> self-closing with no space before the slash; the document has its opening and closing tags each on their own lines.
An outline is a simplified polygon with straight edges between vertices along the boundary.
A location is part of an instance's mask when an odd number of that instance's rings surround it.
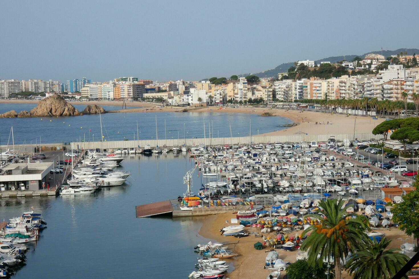
<svg viewBox="0 0 419 279">
<path fill-rule="evenodd" d="M 39 116 L 72 116 L 83 115 L 60 95 L 52 95 L 39 101 L 36 108 L 31 109 L 32 117 Z"/>
</svg>

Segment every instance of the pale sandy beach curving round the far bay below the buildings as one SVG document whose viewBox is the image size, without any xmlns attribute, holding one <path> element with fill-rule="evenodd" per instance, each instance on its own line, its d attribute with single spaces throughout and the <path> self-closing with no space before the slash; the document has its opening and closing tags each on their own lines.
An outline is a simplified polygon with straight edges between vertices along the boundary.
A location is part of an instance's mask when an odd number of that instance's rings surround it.
<svg viewBox="0 0 419 279">
<path fill-rule="evenodd" d="M 0 103 L 34 103 L 36 100 L 0 100 Z M 113 112 L 181 112 L 184 108 L 178 107 L 164 107 L 158 108 L 156 104 L 150 102 L 126 102 L 126 110 L 115 110 Z M 116 101 L 83 101 L 83 102 L 72 102 L 72 104 L 81 105 L 121 105 L 122 102 Z M 142 108 L 129 108 L 129 107 L 142 107 Z M 371 117 L 362 117 L 354 115 L 343 115 L 335 113 L 319 113 L 312 111 L 302 110 L 285 110 L 285 109 L 269 109 L 269 108 L 223 108 L 217 109 L 217 107 L 204 107 L 190 110 L 190 112 L 216 112 L 216 113 L 272 113 L 274 116 L 282 116 L 289 118 L 293 123 L 297 124 L 290 128 L 285 128 L 278 131 L 272 131 L 269 133 L 261 134 L 260 136 L 291 136 L 296 133 L 307 133 L 308 135 L 325 135 L 325 134 L 341 134 L 341 133 L 371 133 L 372 129 L 376 125 L 385 121 L 384 118 L 378 118 L 377 120 Z M 270 117 L 270 116 L 266 116 Z M 355 125 L 356 119 L 356 125 Z M 316 122 L 318 123 L 316 125 Z M 319 123 L 322 123 L 321 125 Z M 323 124 L 326 123 L 326 124 Z M 328 123 L 328 124 L 327 124 Z M 361 137 L 361 136 L 360 136 Z M 361 138 L 360 138 L 361 139 Z"/>
</svg>

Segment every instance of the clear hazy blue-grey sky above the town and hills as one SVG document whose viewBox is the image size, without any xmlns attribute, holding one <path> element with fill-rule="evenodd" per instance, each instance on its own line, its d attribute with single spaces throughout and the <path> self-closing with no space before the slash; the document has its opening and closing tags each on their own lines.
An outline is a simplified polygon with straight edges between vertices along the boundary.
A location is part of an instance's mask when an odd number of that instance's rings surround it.
<svg viewBox="0 0 419 279">
<path fill-rule="evenodd" d="M 0 79 L 199 80 L 419 48 L 418 8 L 416 0 L 2 1 Z"/>
</svg>

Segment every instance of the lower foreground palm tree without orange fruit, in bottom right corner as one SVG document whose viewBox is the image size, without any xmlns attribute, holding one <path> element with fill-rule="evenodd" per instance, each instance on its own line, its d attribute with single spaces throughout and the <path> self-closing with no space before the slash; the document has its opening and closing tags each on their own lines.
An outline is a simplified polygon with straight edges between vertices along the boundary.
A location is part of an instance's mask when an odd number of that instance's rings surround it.
<svg viewBox="0 0 419 279">
<path fill-rule="evenodd" d="M 391 278 L 409 261 L 409 257 L 398 253 L 398 249 L 387 249 L 391 240 L 380 242 L 365 238 L 362 248 L 357 250 L 346 266 L 353 279 Z"/>
</svg>

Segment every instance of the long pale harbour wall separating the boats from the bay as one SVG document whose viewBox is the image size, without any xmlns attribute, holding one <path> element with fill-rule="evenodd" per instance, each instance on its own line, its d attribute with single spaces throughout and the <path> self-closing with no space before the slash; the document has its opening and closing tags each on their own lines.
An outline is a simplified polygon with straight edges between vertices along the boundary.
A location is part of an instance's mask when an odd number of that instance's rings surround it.
<svg viewBox="0 0 419 279">
<path fill-rule="evenodd" d="M 186 138 L 186 146 L 197 146 L 200 143 L 204 143 L 206 146 L 217 146 L 217 145 L 233 145 L 233 144 L 249 144 L 253 143 L 274 143 L 279 142 L 301 142 L 301 141 L 327 141 L 331 136 L 334 136 L 336 140 L 343 141 L 345 138 L 353 141 L 355 138 L 361 139 L 379 139 L 382 135 L 373 135 L 372 133 L 348 133 L 348 134 L 324 134 L 324 135 L 308 135 L 306 133 L 297 133 L 290 136 L 246 136 L 246 137 L 228 137 L 228 138 Z M 91 142 L 72 142 L 71 148 L 83 148 L 83 149 L 115 149 L 115 148 L 137 148 L 138 146 L 144 147 L 146 144 L 150 144 L 152 148 L 158 145 L 159 147 L 166 146 L 171 147 L 173 145 L 183 145 L 185 139 L 159 139 L 159 140 L 129 140 L 129 141 L 91 141 Z"/>
</svg>

